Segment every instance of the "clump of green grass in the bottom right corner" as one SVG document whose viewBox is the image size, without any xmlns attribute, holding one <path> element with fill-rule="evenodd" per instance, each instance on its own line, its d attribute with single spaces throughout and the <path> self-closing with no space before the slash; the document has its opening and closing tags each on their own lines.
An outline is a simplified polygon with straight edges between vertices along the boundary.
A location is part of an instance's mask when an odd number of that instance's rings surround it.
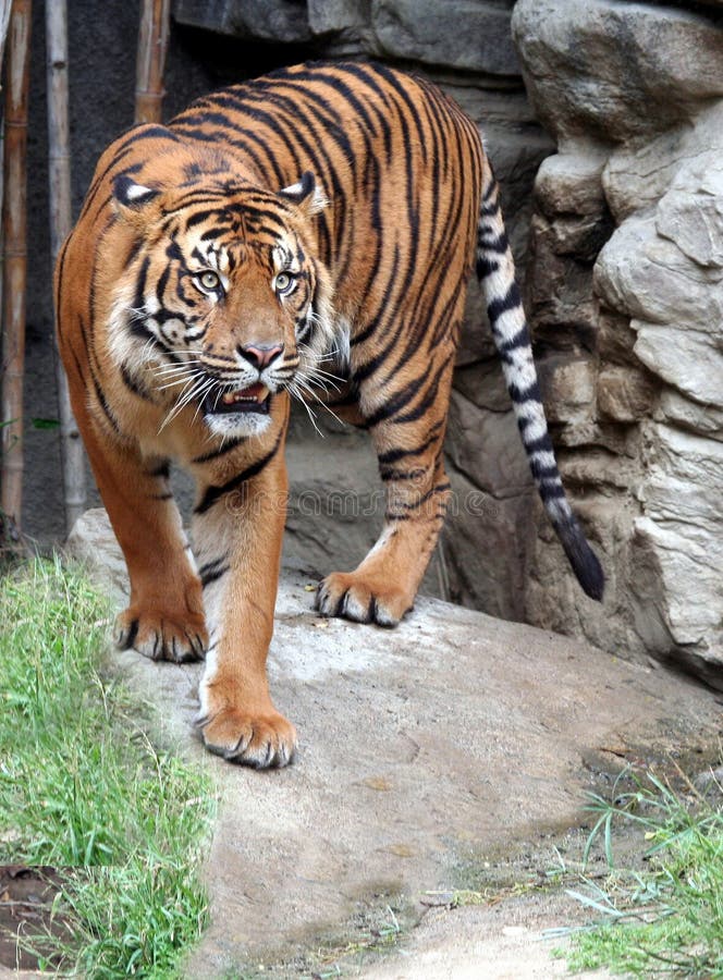
<svg viewBox="0 0 723 980">
<path fill-rule="evenodd" d="M 584 878 L 584 891 L 569 891 L 600 916 L 574 932 L 571 968 L 723 978 L 723 787 L 711 775 L 703 793 L 679 775 L 673 789 L 654 772 L 626 771 L 610 800 L 590 796 L 596 822 L 584 863 L 602 847 L 610 873 L 602 884 Z M 620 822 L 640 829 L 641 871 L 615 869 Z"/>
</svg>

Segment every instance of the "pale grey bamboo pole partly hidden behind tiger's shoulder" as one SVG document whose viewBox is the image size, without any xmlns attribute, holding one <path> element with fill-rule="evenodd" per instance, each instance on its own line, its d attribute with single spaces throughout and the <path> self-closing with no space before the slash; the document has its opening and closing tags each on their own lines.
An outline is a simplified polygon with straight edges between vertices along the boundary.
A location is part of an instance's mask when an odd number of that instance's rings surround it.
<svg viewBox="0 0 723 980">
<path fill-rule="evenodd" d="M 48 53 L 48 175 L 50 183 L 50 255 L 58 253 L 71 231 L 71 152 L 68 122 L 68 4 L 46 0 Z M 85 454 L 68 392 L 68 379 L 58 352 L 56 381 L 60 416 L 60 451 L 63 466 L 65 530 L 70 534 L 86 505 Z"/>
</svg>

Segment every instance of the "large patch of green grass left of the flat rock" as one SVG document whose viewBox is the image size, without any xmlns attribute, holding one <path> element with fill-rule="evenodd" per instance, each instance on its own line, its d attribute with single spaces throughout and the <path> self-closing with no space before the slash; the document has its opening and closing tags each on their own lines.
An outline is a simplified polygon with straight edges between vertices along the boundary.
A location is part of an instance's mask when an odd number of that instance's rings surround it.
<svg viewBox="0 0 723 980">
<path fill-rule="evenodd" d="M 207 918 L 216 796 L 99 673 L 108 615 L 59 560 L 0 581 L 0 861 L 63 869 L 65 924 L 41 943 L 53 969 L 173 977 Z"/>
</svg>

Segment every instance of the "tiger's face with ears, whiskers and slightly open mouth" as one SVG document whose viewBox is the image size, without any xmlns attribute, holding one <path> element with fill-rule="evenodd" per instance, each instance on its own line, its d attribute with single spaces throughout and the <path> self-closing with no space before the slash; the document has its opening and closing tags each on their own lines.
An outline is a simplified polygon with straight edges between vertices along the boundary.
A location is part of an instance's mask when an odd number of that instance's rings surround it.
<svg viewBox="0 0 723 980">
<path fill-rule="evenodd" d="M 260 434 L 281 391 L 299 394 L 333 347 L 329 274 L 310 221 L 311 174 L 279 193 L 203 182 L 162 192 L 117 177 L 135 232 L 111 316 L 121 369 L 221 437 Z"/>
</svg>

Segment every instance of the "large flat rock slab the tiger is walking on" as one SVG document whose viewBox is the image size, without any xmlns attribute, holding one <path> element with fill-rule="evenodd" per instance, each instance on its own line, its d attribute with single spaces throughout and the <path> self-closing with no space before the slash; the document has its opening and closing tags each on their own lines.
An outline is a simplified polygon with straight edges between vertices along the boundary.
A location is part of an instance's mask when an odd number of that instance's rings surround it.
<svg viewBox="0 0 723 980">
<path fill-rule="evenodd" d="M 98 512 L 73 548 L 118 575 Z M 579 819 L 606 758 L 702 745 L 718 728 L 713 695 L 660 667 L 433 599 L 393 630 L 320 620 L 308 587 L 283 575 L 269 665 L 299 732 L 295 764 L 259 773 L 203 756 L 222 804 L 212 922 L 189 977 L 284 958 L 390 896 L 413 910 L 486 856 Z M 114 657 L 167 736 L 200 757 L 200 667 Z"/>
</svg>

